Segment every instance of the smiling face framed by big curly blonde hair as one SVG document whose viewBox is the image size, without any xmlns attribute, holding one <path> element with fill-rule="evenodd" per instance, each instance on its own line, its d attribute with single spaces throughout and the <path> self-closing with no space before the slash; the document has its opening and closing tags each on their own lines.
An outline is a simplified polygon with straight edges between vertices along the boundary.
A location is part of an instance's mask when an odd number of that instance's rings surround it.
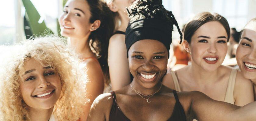
<svg viewBox="0 0 256 121">
<path fill-rule="evenodd" d="M 49 109 L 59 99 L 61 82 L 59 74 L 50 67 L 43 67 L 31 58 L 24 63 L 25 72 L 20 81 L 24 102 L 31 108 Z"/>
</svg>

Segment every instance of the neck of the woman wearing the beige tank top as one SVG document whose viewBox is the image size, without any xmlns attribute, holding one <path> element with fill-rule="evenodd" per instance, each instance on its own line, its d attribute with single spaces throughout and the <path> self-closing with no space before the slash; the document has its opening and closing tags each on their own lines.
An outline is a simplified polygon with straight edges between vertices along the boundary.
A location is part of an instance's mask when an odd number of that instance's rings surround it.
<svg viewBox="0 0 256 121">
<path fill-rule="evenodd" d="M 218 68 L 219 69 L 219 68 Z M 191 75 L 192 80 L 196 84 L 209 84 L 213 83 L 214 80 L 218 80 L 218 69 L 212 71 L 212 72 L 207 72 L 197 64 L 195 64 L 192 60 L 192 64 L 188 67 L 188 72 Z"/>
</svg>

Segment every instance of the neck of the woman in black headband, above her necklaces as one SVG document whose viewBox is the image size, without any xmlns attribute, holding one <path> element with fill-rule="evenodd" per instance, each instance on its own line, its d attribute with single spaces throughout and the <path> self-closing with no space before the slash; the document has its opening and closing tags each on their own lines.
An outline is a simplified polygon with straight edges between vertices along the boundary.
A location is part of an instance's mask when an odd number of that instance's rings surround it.
<svg viewBox="0 0 256 121">
<path fill-rule="evenodd" d="M 133 82 L 131 83 L 132 87 L 134 88 L 134 90 L 144 94 L 144 95 L 150 95 L 152 93 L 155 93 L 156 91 L 158 91 L 162 85 L 162 82 L 159 81 L 154 87 L 152 88 L 146 88 L 141 86 L 136 80 L 133 79 Z M 131 88 L 130 90 L 135 93 Z M 160 89 L 161 90 L 161 89 Z M 160 91 L 159 90 L 159 91 Z"/>
</svg>

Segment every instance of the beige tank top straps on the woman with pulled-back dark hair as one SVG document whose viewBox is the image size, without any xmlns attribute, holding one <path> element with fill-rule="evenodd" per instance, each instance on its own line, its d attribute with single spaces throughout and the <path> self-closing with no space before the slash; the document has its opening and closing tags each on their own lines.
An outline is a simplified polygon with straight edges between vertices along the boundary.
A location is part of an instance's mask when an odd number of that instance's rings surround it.
<svg viewBox="0 0 256 121">
<path fill-rule="evenodd" d="M 231 104 L 235 104 L 234 88 L 235 88 L 237 70 L 238 70 L 238 69 L 235 69 L 235 68 L 233 68 L 233 69 L 231 70 L 224 102 L 231 103 Z M 180 90 L 180 85 L 179 85 L 179 81 L 178 81 L 178 78 L 177 78 L 175 72 L 174 72 L 174 71 L 170 71 L 170 73 L 171 73 L 171 75 L 172 75 L 172 80 L 173 80 L 173 82 L 174 82 L 175 90 L 177 90 L 177 91 L 180 92 L 180 91 L 181 91 L 181 90 Z"/>
</svg>

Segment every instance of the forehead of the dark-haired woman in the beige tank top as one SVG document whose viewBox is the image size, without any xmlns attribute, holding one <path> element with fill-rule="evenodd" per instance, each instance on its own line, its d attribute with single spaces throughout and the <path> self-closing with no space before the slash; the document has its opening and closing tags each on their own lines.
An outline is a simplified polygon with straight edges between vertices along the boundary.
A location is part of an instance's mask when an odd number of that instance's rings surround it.
<svg viewBox="0 0 256 121">
<path fill-rule="evenodd" d="M 223 25 L 218 21 L 209 21 L 199 27 L 194 35 L 204 35 L 208 37 L 227 36 L 227 32 Z"/>
</svg>

